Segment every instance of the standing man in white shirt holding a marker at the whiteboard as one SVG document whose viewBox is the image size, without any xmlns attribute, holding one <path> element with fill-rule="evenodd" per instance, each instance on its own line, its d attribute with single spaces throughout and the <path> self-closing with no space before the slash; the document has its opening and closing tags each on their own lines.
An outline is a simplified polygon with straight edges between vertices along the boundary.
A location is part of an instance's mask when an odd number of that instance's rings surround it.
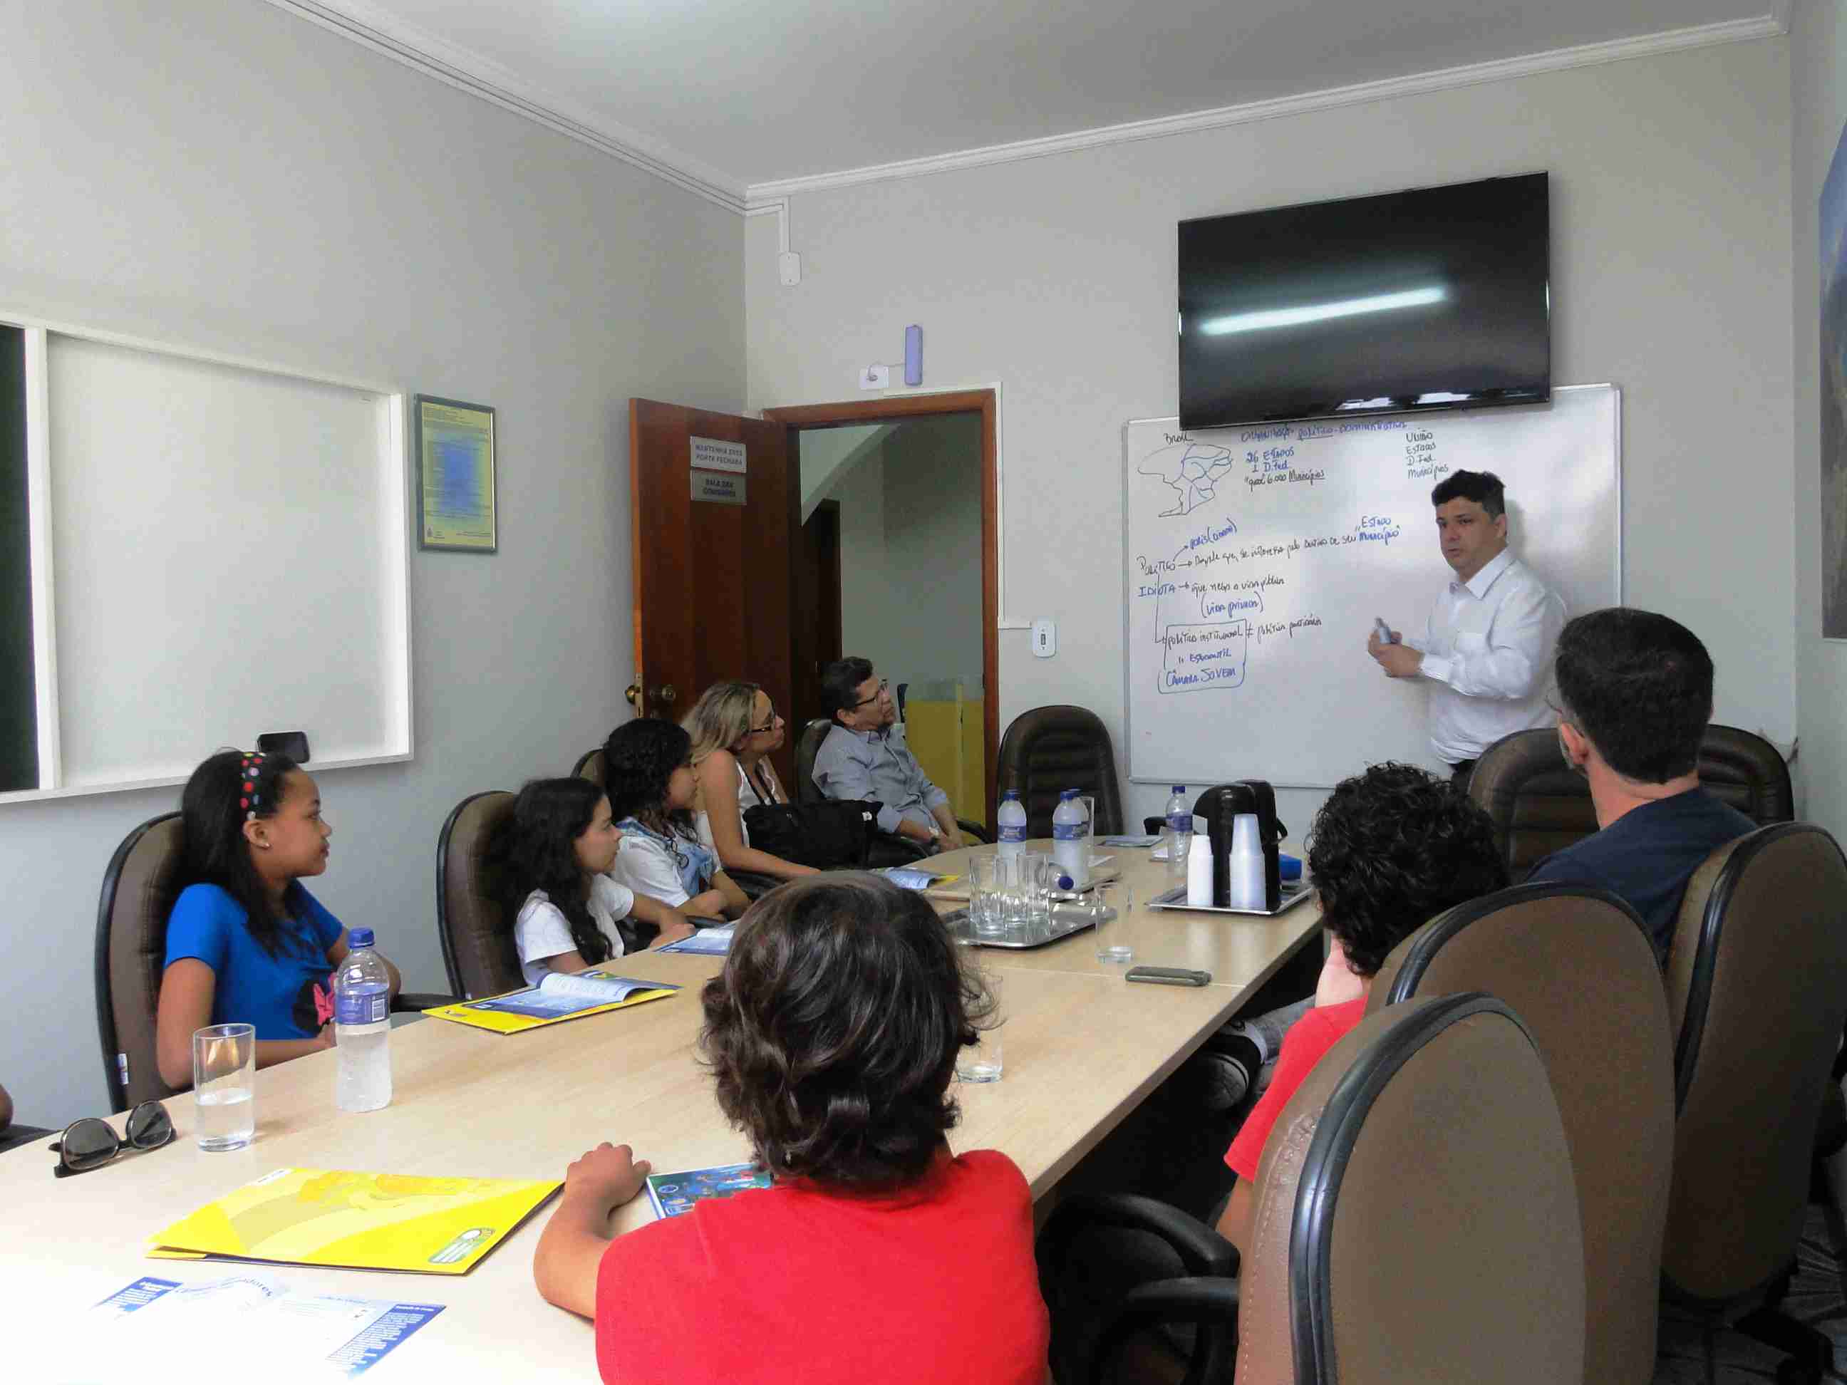
<svg viewBox="0 0 1847 1385">
<path fill-rule="evenodd" d="M 1430 493 L 1443 560 L 1455 571 L 1430 609 L 1428 633 L 1372 632 L 1387 678 L 1430 681 L 1430 746 L 1457 785 L 1503 735 L 1551 726 L 1546 676 L 1564 600 L 1507 548 L 1505 488 L 1492 471 L 1450 473 Z"/>
</svg>

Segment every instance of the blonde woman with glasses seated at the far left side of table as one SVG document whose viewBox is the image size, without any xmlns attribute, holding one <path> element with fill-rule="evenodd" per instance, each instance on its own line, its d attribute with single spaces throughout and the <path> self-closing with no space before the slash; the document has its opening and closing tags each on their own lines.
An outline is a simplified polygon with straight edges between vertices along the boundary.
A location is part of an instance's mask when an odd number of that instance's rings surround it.
<svg viewBox="0 0 1847 1385">
<path fill-rule="evenodd" d="M 713 683 L 680 724 L 693 737 L 693 774 L 698 777 L 693 820 L 718 862 L 728 872 L 750 870 L 781 881 L 815 875 L 813 866 L 752 849 L 744 827 L 746 807 L 789 801 L 768 759 L 783 744 L 783 718 L 770 694 L 755 683 Z"/>
</svg>

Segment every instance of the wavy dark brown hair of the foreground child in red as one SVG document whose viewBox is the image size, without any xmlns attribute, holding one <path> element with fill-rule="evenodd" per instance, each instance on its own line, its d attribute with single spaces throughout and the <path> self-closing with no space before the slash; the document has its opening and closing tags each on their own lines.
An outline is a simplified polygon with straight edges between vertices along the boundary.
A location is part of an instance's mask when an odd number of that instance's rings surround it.
<svg viewBox="0 0 1847 1385">
<path fill-rule="evenodd" d="M 718 1106 L 757 1162 L 853 1191 L 929 1169 L 960 1117 L 955 1054 L 994 1010 L 935 909 L 853 872 L 754 903 L 702 999 Z"/>
</svg>

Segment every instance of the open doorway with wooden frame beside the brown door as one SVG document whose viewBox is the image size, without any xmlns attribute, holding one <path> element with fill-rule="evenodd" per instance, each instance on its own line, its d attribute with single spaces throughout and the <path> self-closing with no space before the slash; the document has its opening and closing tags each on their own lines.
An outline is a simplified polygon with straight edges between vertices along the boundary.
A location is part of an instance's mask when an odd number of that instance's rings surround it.
<svg viewBox="0 0 1847 1385">
<path fill-rule="evenodd" d="M 892 683 L 905 739 L 957 816 L 994 825 L 999 742 L 994 391 L 770 408 L 789 427 L 800 537 L 794 717 L 846 654 Z"/>
</svg>

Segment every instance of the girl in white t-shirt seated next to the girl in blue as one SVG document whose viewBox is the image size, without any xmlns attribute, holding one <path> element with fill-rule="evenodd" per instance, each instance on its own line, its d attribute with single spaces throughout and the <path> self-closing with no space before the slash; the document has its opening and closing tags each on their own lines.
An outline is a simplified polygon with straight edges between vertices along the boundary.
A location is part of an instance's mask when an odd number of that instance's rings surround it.
<svg viewBox="0 0 1847 1385">
<path fill-rule="evenodd" d="M 610 800 L 589 779 L 534 779 L 519 790 L 493 855 L 508 903 L 519 901 L 513 947 L 528 986 L 621 957 L 624 920 L 652 923 L 656 945 L 691 936 L 678 909 L 610 879 L 621 840 Z"/>
</svg>

